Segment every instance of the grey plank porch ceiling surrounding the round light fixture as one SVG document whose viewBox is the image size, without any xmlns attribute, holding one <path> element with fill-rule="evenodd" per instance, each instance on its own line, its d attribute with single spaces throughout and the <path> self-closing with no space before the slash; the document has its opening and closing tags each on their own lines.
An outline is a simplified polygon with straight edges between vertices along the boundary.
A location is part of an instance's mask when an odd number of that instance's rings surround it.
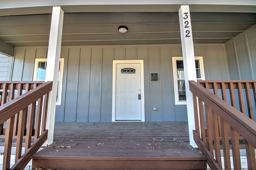
<svg viewBox="0 0 256 170">
<path fill-rule="evenodd" d="M 191 12 L 194 43 L 225 43 L 256 24 L 256 13 Z M 0 42 L 48 46 L 51 14 L 0 16 Z M 118 26 L 127 26 L 121 34 Z M 62 45 L 178 44 L 178 12 L 65 13 Z"/>
</svg>

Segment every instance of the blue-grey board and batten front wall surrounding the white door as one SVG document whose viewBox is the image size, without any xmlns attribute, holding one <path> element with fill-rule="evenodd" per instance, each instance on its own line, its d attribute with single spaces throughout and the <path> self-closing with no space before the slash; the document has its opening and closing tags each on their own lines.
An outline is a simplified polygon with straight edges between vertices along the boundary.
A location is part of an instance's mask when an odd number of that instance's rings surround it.
<svg viewBox="0 0 256 170">
<path fill-rule="evenodd" d="M 194 51 L 203 57 L 206 79 L 229 79 L 224 44 L 196 44 Z M 11 79 L 32 80 L 35 58 L 46 56 L 47 47 L 16 47 Z M 181 45 L 62 47 L 62 102 L 55 121 L 112 121 L 113 60 L 136 59 L 144 60 L 145 121 L 187 121 L 186 105 L 174 102 L 172 57 L 180 56 Z M 151 81 L 151 73 L 158 73 L 158 81 Z"/>
</svg>

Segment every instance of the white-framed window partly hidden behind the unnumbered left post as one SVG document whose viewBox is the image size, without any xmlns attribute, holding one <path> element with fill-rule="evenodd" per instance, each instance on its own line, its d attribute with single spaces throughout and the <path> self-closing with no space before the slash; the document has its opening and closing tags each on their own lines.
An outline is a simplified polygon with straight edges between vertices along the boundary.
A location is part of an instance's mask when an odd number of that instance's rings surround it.
<svg viewBox="0 0 256 170">
<path fill-rule="evenodd" d="M 35 60 L 33 81 L 45 80 L 46 63 L 47 63 L 46 58 L 40 58 Z M 60 58 L 56 105 L 61 104 L 63 68 L 64 68 L 64 58 Z"/>
</svg>

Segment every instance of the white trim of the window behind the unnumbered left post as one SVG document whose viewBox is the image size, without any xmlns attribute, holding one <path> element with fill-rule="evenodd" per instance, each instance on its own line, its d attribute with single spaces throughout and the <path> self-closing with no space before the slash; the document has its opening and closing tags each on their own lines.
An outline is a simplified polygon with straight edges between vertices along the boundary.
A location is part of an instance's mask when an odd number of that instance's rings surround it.
<svg viewBox="0 0 256 170">
<path fill-rule="evenodd" d="M 38 69 L 38 62 L 47 61 L 47 58 L 37 58 L 35 59 L 34 65 L 34 74 L 33 74 L 33 81 L 38 81 L 36 79 L 37 76 L 37 69 Z M 58 87 L 58 101 L 56 101 L 56 105 L 61 105 L 61 97 L 62 97 L 62 83 L 63 83 L 63 72 L 64 72 L 64 58 L 60 58 L 60 82 Z"/>
</svg>

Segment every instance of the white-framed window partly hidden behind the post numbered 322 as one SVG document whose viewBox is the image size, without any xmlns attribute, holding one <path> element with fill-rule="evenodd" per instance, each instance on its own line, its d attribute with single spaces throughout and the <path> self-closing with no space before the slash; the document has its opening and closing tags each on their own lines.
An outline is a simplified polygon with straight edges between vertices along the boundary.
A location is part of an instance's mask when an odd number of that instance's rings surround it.
<svg viewBox="0 0 256 170">
<path fill-rule="evenodd" d="M 196 77 L 204 80 L 203 57 L 195 57 Z M 174 96 L 176 105 L 186 105 L 185 76 L 183 67 L 183 57 L 172 57 Z"/>
</svg>

